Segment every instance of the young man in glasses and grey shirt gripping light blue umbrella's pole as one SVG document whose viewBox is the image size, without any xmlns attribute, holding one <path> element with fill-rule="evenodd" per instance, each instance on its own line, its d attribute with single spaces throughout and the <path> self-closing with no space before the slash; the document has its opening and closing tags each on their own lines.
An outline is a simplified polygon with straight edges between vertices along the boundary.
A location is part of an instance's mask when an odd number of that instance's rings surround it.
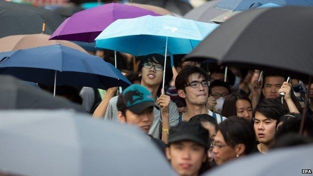
<svg viewBox="0 0 313 176">
<path fill-rule="evenodd" d="M 154 138 L 161 138 L 167 143 L 168 132 L 171 126 L 176 126 L 178 123 L 178 109 L 170 96 L 161 94 L 163 72 L 164 72 L 164 56 L 159 54 L 150 54 L 138 57 L 140 63 L 138 65 L 138 76 L 140 77 L 140 85 L 146 87 L 152 94 L 154 101 L 160 107 L 153 109 L 153 123 L 148 134 Z M 173 78 L 173 72 L 170 64 L 166 65 L 165 86 Z M 104 118 L 107 120 L 117 121 L 117 96 L 111 98 L 109 105 L 106 108 Z M 161 112 L 162 111 L 162 116 Z M 161 124 L 161 125 L 160 125 Z"/>
</svg>

